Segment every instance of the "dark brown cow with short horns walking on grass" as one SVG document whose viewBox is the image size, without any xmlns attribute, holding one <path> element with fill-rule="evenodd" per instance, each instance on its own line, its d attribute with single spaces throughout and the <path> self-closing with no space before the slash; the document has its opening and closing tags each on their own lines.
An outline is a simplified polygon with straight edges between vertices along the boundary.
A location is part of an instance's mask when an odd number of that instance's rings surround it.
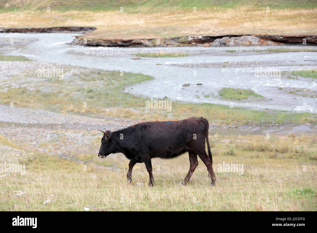
<svg viewBox="0 0 317 233">
<path fill-rule="evenodd" d="M 132 181 L 132 169 L 136 163 L 145 163 L 154 184 L 151 159 L 155 157 L 171 159 L 185 152 L 189 154 L 190 168 L 182 184 L 187 184 L 198 165 L 197 154 L 204 162 L 215 185 L 216 176 L 212 169 L 212 156 L 208 139 L 208 121 L 204 118 L 189 117 L 182 120 L 147 121 L 120 129 L 115 132 L 100 130 L 104 133 L 98 153 L 106 158 L 111 153 L 123 153 L 130 159 L 128 181 Z M 207 141 L 208 154 L 205 151 Z"/>
</svg>

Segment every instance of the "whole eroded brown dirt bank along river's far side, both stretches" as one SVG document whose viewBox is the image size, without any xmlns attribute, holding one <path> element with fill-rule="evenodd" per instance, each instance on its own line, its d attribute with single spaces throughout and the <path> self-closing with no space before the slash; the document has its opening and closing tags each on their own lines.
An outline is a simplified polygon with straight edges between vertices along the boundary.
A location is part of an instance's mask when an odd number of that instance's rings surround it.
<svg viewBox="0 0 317 233">
<path fill-rule="evenodd" d="M 77 32 L 88 33 L 95 27 L 51 27 L 51 28 L 7 28 L 0 33 L 56 33 Z M 168 38 L 96 38 L 76 36 L 70 42 L 74 45 L 105 46 L 105 47 L 177 47 L 177 46 L 257 46 L 278 44 L 317 45 L 316 35 L 223 35 L 223 36 L 180 36 Z"/>
</svg>

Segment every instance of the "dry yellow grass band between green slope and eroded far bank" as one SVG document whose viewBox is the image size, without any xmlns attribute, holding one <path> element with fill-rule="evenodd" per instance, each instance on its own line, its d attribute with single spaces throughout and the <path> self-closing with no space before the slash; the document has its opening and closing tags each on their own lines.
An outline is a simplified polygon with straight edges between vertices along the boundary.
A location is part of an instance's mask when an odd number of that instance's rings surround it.
<svg viewBox="0 0 317 233">
<path fill-rule="evenodd" d="M 93 26 L 87 38 L 158 38 L 189 35 L 317 33 L 317 9 L 266 10 L 239 7 L 164 10 L 126 14 L 119 11 L 25 11 L 0 14 L 1 27 Z"/>
</svg>

